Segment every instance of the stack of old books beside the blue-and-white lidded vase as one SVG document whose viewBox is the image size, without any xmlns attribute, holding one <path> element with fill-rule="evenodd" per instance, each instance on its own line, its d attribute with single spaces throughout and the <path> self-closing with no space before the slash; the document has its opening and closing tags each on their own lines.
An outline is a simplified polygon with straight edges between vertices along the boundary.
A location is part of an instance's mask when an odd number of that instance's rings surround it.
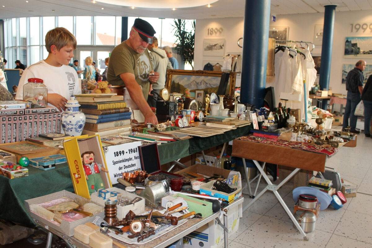
<svg viewBox="0 0 372 248">
<path fill-rule="evenodd" d="M 86 123 L 82 134 L 107 136 L 132 133 L 131 112 L 116 93 L 75 95 Z"/>
</svg>

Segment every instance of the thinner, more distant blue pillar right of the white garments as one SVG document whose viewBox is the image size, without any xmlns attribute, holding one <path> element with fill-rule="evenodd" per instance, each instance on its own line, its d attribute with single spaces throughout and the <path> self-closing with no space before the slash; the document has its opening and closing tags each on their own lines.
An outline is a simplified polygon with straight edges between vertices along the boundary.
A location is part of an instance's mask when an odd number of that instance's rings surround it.
<svg viewBox="0 0 372 248">
<path fill-rule="evenodd" d="M 329 78 L 331 74 L 332 43 L 334 31 L 334 16 L 336 13 L 335 4 L 324 6 L 324 25 L 323 25 L 323 42 L 322 42 L 322 62 L 320 64 L 319 85 L 320 89 L 329 88 Z M 323 99 L 322 107 L 327 108 L 327 99 Z"/>
</svg>

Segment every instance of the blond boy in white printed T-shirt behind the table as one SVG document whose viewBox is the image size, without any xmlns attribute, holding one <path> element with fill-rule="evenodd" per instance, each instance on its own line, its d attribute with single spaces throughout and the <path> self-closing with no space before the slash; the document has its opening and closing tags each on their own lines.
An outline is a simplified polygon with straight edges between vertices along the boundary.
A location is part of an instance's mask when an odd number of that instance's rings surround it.
<svg viewBox="0 0 372 248">
<path fill-rule="evenodd" d="M 48 87 L 48 105 L 64 111 L 71 95 L 81 94 L 77 73 L 68 66 L 74 57 L 76 39 L 64 27 L 56 27 L 45 36 L 45 48 L 49 52 L 48 57 L 25 69 L 15 99 L 23 99 L 23 85 L 29 78 L 41 78 Z"/>
</svg>

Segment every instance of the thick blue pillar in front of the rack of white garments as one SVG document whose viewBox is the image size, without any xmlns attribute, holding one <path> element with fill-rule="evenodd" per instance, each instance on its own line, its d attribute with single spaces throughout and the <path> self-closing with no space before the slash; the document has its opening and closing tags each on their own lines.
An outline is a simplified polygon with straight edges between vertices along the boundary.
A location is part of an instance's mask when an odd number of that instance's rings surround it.
<svg viewBox="0 0 372 248">
<path fill-rule="evenodd" d="M 246 0 L 240 101 L 263 107 L 271 0 Z"/>
</svg>

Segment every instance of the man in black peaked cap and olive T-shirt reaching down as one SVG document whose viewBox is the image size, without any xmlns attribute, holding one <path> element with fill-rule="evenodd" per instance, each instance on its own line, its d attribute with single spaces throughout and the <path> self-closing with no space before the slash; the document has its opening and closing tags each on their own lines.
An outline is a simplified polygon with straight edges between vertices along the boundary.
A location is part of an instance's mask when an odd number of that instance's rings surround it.
<svg viewBox="0 0 372 248">
<path fill-rule="evenodd" d="M 150 84 L 159 79 L 159 73 L 154 72 L 146 49 L 148 44 L 153 43 L 154 34 L 155 30 L 150 23 L 140 18 L 135 19 L 129 38 L 112 50 L 107 71 L 109 84 L 125 85 L 130 97 L 144 115 L 145 124 L 158 123 L 147 104 Z"/>
</svg>

